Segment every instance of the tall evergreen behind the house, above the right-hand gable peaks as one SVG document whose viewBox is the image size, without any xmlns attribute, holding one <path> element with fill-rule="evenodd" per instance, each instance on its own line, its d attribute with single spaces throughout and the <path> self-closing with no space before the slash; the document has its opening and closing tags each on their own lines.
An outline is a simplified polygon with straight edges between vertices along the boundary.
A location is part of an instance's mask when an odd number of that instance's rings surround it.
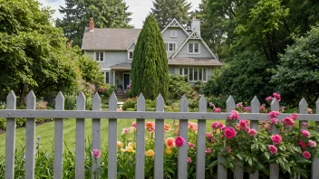
<svg viewBox="0 0 319 179">
<path fill-rule="evenodd" d="M 151 13 L 155 15 L 160 29 L 163 29 L 174 18 L 180 24 L 188 24 L 191 3 L 186 0 L 155 0 L 153 5 Z"/>
</svg>

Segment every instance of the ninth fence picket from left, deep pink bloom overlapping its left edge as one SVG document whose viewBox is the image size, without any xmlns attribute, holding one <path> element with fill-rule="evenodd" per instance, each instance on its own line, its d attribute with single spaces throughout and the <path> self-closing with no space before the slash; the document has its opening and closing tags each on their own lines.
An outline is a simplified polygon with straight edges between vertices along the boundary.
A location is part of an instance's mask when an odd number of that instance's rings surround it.
<svg viewBox="0 0 319 179">
<path fill-rule="evenodd" d="M 180 99 L 179 110 L 180 112 L 189 111 L 189 101 L 185 95 Z M 183 118 L 186 118 L 186 116 Z M 188 124 L 188 119 L 179 121 L 179 136 L 185 140 L 184 145 L 179 146 L 179 179 L 186 179 L 188 177 Z"/>
</svg>

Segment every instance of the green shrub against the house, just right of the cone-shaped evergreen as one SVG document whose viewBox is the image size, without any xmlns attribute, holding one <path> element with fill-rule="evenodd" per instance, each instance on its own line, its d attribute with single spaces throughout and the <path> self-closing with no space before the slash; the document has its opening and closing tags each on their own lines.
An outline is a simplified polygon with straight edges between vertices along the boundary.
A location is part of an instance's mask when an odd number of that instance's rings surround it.
<svg viewBox="0 0 319 179">
<path fill-rule="evenodd" d="M 169 99 L 181 99 L 183 95 L 192 98 L 195 94 L 191 88 L 186 76 L 169 74 Z"/>
</svg>

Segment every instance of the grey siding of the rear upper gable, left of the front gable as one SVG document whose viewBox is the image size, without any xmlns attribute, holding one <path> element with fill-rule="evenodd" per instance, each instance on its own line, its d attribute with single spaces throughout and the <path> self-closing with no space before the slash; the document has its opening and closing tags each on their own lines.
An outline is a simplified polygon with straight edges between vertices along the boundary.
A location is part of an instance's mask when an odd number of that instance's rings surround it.
<svg viewBox="0 0 319 179">
<path fill-rule="evenodd" d="M 171 31 L 177 32 L 177 37 L 170 37 Z M 176 43 L 176 51 L 179 49 L 180 45 L 185 42 L 185 40 L 188 38 L 187 34 L 181 30 L 180 28 L 172 28 L 169 27 L 165 32 L 161 34 L 163 36 L 164 42 L 175 42 Z M 175 51 L 175 52 L 176 52 Z M 168 58 L 173 55 L 174 52 L 167 52 Z"/>
</svg>

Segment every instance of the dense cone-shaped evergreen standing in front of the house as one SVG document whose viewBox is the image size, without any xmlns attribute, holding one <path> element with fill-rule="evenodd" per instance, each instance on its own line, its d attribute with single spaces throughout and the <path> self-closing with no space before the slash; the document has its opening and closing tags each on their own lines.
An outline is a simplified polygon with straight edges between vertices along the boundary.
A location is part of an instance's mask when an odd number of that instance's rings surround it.
<svg viewBox="0 0 319 179">
<path fill-rule="evenodd" d="M 154 15 L 150 14 L 140 32 L 131 64 L 131 90 L 145 99 L 164 99 L 169 93 L 169 66 L 165 44 Z"/>
</svg>

